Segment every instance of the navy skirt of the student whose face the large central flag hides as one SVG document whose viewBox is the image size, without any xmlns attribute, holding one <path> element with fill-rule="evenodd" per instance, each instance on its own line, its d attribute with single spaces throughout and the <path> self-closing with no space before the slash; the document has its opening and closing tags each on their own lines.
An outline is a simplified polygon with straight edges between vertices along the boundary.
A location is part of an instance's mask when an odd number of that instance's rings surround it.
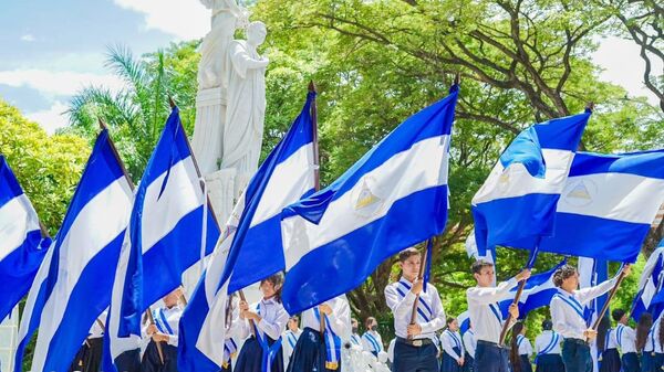
<svg viewBox="0 0 664 372">
<path fill-rule="evenodd" d="M 307 327 L 302 330 L 302 334 L 300 334 L 293 348 L 293 353 L 288 364 L 288 372 L 341 372 L 341 364 L 336 370 L 328 370 L 325 368 L 326 358 L 325 340 L 323 340 L 319 331 Z M 341 361 L 339 362 L 341 363 Z"/>
</svg>

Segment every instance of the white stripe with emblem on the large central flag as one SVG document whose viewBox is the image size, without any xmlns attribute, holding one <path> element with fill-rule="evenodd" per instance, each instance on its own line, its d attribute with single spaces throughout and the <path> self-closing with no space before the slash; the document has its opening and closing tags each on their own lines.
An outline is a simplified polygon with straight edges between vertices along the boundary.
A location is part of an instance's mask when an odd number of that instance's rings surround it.
<svg viewBox="0 0 664 372">
<path fill-rule="evenodd" d="M 424 139 L 413 145 L 411 149 L 393 156 L 376 169 L 364 174 L 362 180 L 355 183 L 351 190 L 330 203 L 321 219 L 320 226 L 330 226 L 332 225 L 331 221 L 334 221 L 334 228 L 320 228 L 319 225 L 309 223 L 301 216 L 283 220 L 281 224 L 283 246 L 288 249 L 286 252 L 286 268 L 293 267 L 300 258 L 314 248 L 385 216 L 394 202 L 417 191 L 446 184 L 448 144 L 449 136 L 447 135 Z M 423 159 L 426 159 L 426 161 L 423 161 Z M 440 168 L 432 167 L 432 163 L 442 166 Z M 398 182 L 395 180 L 398 180 Z M 367 185 L 369 187 L 374 187 L 371 192 L 380 201 L 374 204 L 373 213 L 349 213 L 355 211 L 354 202 Z M 384 184 L 396 185 L 396 189 L 383 190 L 375 188 Z M 305 236 L 293 236 L 293 232 Z M 294 244 L 291 240 L 298 240 L 299 243 Z"/>
</svg>

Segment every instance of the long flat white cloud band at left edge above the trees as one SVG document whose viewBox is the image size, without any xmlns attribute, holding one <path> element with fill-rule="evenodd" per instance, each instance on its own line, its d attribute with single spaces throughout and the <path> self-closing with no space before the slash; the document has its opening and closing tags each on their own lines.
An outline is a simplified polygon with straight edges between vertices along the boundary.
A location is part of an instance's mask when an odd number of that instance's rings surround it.
<svg viewBox="0 0 664 372">
<path fill-rule="evenodd" d="M 124 86 L 124 82 L 114 75 L 38 68 L 0 71 L 0 84 L 13 87 L 28 86 L 51 97 L 72 96 L 81 88 L 91 85 L 104 86 L 113 92 L 117 92 Z"/>
</svg>

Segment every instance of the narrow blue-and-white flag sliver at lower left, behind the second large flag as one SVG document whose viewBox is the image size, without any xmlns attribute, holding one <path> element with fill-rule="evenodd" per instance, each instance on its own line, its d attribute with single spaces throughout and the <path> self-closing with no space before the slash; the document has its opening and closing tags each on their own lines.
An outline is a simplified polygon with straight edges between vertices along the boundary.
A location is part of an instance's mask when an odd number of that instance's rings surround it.
<svg viewBox="0 0 664 372">
<path fill-rule="evenodd" d="M 51 243 L 51 246 L 53 246 L 53 243 Z M 41 312 L 44 307 L 44 302 L 46 301 L 46 285 L 44 281 L 49 276 L 49 268 L 51 267 L 53 249 L 49 248 L 44 259 L 39 266 L 39 269 L 34 276 L 34 280 L 32 281 L 32 286 L 30 287 L 30 291 L 28 293 L 28 298 L 25 299 L 25 307 L 23 307 L 23 315 L 21 316 L 21 323 L 19 326 L 19 342 L 14 350 L 14 354 L 12 355 L 14 361 L 14 372 L 22 371 L 25 347 L 30 342 L 30 339 L 32 339 L 34 330 L 37 330 L 39 327 Z"/>
</svg>

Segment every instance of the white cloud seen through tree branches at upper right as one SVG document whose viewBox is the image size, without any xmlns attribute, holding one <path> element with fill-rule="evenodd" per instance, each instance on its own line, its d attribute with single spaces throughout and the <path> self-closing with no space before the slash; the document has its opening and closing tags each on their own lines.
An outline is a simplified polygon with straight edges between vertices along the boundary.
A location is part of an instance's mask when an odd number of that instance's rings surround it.
<svg viewBox="0 0 664 372">
<path fill-rule="evenodd" d="M 639 56 L 639 46 L 631 40 L 615 36 L 599 42 L 600 47 L 592 55 L 592 60 L 603 68 L 600 78 L 622 86 L 632 96 L 645 96 L 651 104 L 658 105 L 656 96 L 643 83 L 645 65 Z M 664 66 L 654 65 L 652 71 L 663 68 Z"/>
</svg>

